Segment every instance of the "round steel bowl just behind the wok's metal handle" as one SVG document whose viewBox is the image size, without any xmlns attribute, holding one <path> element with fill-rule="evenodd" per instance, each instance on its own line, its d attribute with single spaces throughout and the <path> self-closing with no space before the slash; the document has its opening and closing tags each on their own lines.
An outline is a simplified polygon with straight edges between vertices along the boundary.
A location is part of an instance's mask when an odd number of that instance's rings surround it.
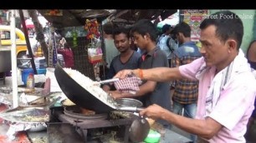
<svg viewBox="0 0 256 143">
<path fill-rule="evenodd" d="M 115 100 L 120 106 L 131 106 L 131 107 L 141 107 L 143 106 L 141 101 L 133 98 L 119 98 Z"/>
</svg>

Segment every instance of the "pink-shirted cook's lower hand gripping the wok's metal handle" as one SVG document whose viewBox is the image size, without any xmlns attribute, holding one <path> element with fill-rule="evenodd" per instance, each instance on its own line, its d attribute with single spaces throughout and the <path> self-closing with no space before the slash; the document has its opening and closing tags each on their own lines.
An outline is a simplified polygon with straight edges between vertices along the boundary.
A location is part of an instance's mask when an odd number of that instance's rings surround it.
<svg viewBox="0 0 256 143">
<path fill-rule="evenodd" d="M 147 116 L 151 119 L 157 120 L 161 118 L 162 114 L 165 114 L 165 109 L 163 109 L 161 106 L 158 106 L 156 104 L 153 104 L 151 106 L 148 106 L 143 111 L 140 111 L 141 116 Z"/>
</svg>

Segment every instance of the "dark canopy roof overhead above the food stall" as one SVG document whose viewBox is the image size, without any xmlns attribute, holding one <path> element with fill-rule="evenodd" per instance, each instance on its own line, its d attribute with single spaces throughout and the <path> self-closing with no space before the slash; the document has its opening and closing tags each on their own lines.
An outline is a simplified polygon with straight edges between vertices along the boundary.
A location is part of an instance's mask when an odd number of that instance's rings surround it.
<svg viewBox="0 0 256 143">
<path fill-rule="evenodd" d="M 142 18 L 153 20 L 159 16 L 164 20 L 177 12 L 177 9 L 64 9 L 50 13 L 52 11 L 54 10 L 38 10 L 54 27 L 77 27 L 84 25 L 86 19 L 92 18 L 102 22 L 108 17 L 112 22 L 125 24 L 132 24 Z"/>
</svg>

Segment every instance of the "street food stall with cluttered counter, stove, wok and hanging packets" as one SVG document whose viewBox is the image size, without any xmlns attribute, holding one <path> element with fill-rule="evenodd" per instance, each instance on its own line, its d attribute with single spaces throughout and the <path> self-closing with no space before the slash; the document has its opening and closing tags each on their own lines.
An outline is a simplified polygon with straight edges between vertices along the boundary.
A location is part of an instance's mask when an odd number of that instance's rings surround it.
<svg viewBox="0 0 256 143">
<path fill-rule="evenodd" d="M 15 132 L 26 131 L 30 142 L 141 142 L 149 135 L 158 136 L 156 142 L 188 142 L 185 136 L 166 130 L 163 126 L 138 116 L 142 103 L 134 99 L 114 100 L 95 82 L 99 76 L 95 66 L 105 60 L 102 40 L 102 24 L 118 20 L 123 14 L 138 11 L 120 10 L 38 10 L 49 22 L 54 32 L 59 32 L 74 52 L 74 68 L 61 67 L 54 62 L 51 78 L 44 86 L 18 87 L 18 107 L 0 113 L 7 124 L 8 137 Z M 141 17 L 126 22 L 136 22 L 149 17 L 141 11 Z M 146 14 L 147 13 L 147 14 Z M 123 22 L 123 21 L 120 21 Z M 54 49 L 54 44 L 49 51 Z M 54 53 L 54 52 L 53 52 Z M 95 72 L 97 74 L 95 74 Z M 54 76 L 53 76 L 54 74 Z M 53 83 L 60 91 L 51 91 Z M 0 95 L 12 94 L 12 88 L 1 88 Z M 8 99 L 7 99 L 8 100 Z M 12 99 L 10 102 L 12 102 Z M 155 132 L 156 131 L 156 132 Z M 145 140 L 146 141 L 146 140 Z M 150 142 L 150 141 L 149 141 Z"/>
</svg>

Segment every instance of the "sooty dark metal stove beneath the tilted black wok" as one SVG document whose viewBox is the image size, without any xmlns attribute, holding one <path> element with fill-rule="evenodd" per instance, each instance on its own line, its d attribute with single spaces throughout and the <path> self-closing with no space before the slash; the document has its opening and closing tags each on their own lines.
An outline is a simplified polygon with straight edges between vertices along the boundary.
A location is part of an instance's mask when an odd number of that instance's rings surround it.
<svg viewBox="0 0 256 143">
<path fill-rule="evenodd" d="M 136 118 L 138 116 L 125 111 L 84 116 L 67 112 L 62 106 L 52 107 L 47 129 L 49 142 L 128 143 L 131 142 L 129 129 Z"/>
</svg>

